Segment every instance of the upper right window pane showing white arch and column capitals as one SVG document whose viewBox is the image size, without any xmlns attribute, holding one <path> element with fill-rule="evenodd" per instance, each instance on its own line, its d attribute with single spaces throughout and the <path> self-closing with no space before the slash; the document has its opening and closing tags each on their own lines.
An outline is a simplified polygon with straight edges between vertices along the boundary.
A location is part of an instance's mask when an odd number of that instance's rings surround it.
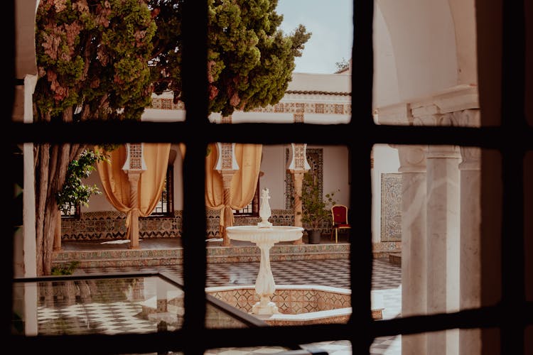
<svg viewBox="0 0 533 355">
<path fill-rule="evenodd" d="M 372 105 L 377 124 L 480 126 L 474 3 L 432 10 L 405 11 L 395 2 L 375 2 Z M 488 104 L 485 111 L 497 111 L 497 105 L 491 109 L 495 103 Z"/>
</svg>

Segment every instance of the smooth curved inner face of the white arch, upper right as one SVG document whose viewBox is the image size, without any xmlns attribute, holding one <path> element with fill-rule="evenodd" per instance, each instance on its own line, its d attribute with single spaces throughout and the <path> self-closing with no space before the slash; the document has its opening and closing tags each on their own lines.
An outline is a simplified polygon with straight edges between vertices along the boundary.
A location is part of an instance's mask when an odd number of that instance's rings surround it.
<svg viewBox="0 0 533 355">
<path fill-rule="evenodd" d="M 448 0 L 379 0 L 377 6 L 389 30 L 401 101 L 459 84 Z"/>
</svg>

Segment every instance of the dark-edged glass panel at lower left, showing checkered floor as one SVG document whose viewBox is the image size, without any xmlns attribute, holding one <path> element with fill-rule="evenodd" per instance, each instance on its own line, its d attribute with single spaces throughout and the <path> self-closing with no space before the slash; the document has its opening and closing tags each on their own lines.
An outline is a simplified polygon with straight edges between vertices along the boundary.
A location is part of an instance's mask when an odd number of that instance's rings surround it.
<svg viewBox="0 0 533 355">
<path fill-rule="evenodd" d="M 15 283 L 14 312 L 26 335 L 157 332 L 181 328 L 183 291 L 157 277 Z"/>
</svg>

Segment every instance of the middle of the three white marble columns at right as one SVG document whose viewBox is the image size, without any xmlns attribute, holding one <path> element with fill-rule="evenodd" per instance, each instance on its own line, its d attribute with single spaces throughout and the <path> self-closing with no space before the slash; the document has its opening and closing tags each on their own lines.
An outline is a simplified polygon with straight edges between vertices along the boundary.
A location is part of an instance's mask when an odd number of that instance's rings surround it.
<svg viewBox="0 0 533 355">
<path fill-rule="evenodd" d="M 427 312 L 459 309 L 459 162 L 456 146 L 429 146 L 427 165 Z M 458 353 L 458 332 L 427 334 L 427 354 Z"/>
</svg>

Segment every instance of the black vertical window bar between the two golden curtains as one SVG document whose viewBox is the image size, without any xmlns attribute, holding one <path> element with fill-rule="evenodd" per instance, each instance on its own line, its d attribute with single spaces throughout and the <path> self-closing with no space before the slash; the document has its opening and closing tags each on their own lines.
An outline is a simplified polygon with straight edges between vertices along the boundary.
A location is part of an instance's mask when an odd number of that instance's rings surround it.
<svg viewBox="0 0 533 355">
<path fill-rule="evenodd" d="M 205 332 L 205 151 L 208 130 L 208 2 L 183 1 L 183 95 L 186 97 L 183 160 L 183 283 L 185 354 L 200 354 Z M 179 341 L 178 339 L 176 339 Z"/>
</svg>

